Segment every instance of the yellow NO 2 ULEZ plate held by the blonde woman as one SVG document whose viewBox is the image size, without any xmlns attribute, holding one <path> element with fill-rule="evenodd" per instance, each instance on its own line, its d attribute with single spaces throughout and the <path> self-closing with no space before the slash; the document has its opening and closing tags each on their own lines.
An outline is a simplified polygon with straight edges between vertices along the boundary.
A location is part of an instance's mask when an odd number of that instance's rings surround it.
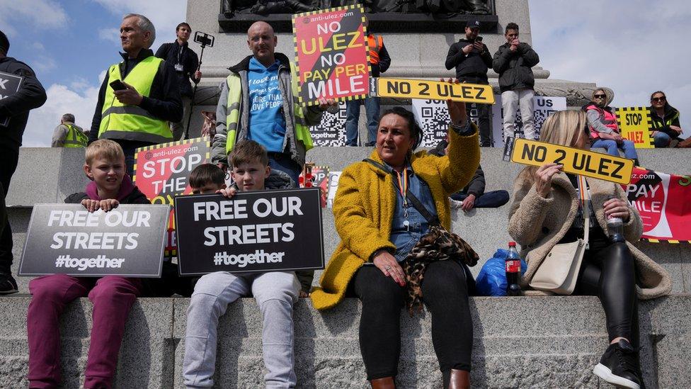
<svg viewBox="0 0 691 389">
<path fill-rule="evenodd" d="M 511 161 L 537 167 L 554 162 L 564 165 L 565 173 L 617 184 L 629 184 L 634 169 L 632 159 L 522 138 L 516 139 L 513 144 Z"/>
</svg>

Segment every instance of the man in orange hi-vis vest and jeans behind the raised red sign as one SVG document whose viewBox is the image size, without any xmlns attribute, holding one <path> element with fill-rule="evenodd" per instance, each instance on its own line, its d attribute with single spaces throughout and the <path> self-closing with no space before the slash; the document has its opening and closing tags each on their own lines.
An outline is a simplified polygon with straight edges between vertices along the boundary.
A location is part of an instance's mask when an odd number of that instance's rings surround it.
<svg viewBox="0 0 691 389">
<path fill-rule="evenodd" d="M 369 27 L 369 22 L 365 18 L 365 26 Z M 389 69 L 391 57 L 387 48 L 384 47 L 382 35 L 374 35 L 367 29 L 367 45 L 370 47 L 370 69 L 372 77 L 379 77 L 379 73 L 384 73 Z M 365 97 L 362 100 L 351 100 L 345 102 L 345 145 L 358 145 L 358 121 L 360 120 L 360 104 L 365 104 L 365 114 L 367 115 L 367 141 L 360 142 L 363 146 L 372 147 L 377 142 L 377 130 L 379 128 L 379 98 Z"/>
</svg>

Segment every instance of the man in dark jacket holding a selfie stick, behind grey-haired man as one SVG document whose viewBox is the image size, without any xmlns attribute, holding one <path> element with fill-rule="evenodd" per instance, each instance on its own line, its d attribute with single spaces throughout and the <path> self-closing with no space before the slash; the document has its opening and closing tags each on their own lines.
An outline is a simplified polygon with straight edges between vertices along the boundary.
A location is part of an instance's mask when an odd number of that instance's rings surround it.
<svg viewBox="0 0 691 389">
<path fill-rule="evenodd" d="M 190 114 L 190 106 L 192 103 L 192 85 L 190 80 L 195 84 L 202 79 L 202 72 L 198 70 L 199 57 L 188 46 L 188 40 L 192 28 L 188 23 L 180 23 L 175 29 L 175 34 L 178 37 L 173 43 L 164 43 L 156 50 L 156 57 L 166 60 L 178 77 L 178 87 L 180 88 L 180 97 L 183 102 L 183 120 L 179 122 L 171 122 L 171 130 L 173 131 L 173 139 L 181 139 L 185 132 L 184 123 Z"/>
</svg>

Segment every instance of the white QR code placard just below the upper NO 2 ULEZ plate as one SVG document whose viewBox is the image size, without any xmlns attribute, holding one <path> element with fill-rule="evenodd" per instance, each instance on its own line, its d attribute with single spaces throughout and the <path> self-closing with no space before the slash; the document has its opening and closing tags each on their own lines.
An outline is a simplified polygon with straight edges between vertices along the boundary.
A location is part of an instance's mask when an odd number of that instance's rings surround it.
<svg viewBox="0 0 691 389">
<path fill-rule="evenodd" d="M 416 101 L 413 101 L 413 104 L 415 103 Z M 451 118 L 445 101 L 426 100 L 415 111 L 418 113 L 416 115 L 418 124 L 423 131 L 421 147 L 435 147 L 440 141 L 446 139 Z M 470 118 L 477 124 L 477 109 L 474 105 Z"/>
</svg>

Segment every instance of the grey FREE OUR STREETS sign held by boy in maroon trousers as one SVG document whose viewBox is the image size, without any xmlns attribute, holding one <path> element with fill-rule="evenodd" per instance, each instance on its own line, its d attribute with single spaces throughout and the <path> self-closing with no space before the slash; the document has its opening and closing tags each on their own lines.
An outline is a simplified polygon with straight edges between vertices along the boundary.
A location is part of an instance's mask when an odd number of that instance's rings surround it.
<svg viewBox="0 0 691 389">
<path fill-rule="evenodd" d="M 169 214 L 169 205 L 90 213 L 81 204 L 37 204 L 19 275 L 160 277 Z"/>
</svg>

